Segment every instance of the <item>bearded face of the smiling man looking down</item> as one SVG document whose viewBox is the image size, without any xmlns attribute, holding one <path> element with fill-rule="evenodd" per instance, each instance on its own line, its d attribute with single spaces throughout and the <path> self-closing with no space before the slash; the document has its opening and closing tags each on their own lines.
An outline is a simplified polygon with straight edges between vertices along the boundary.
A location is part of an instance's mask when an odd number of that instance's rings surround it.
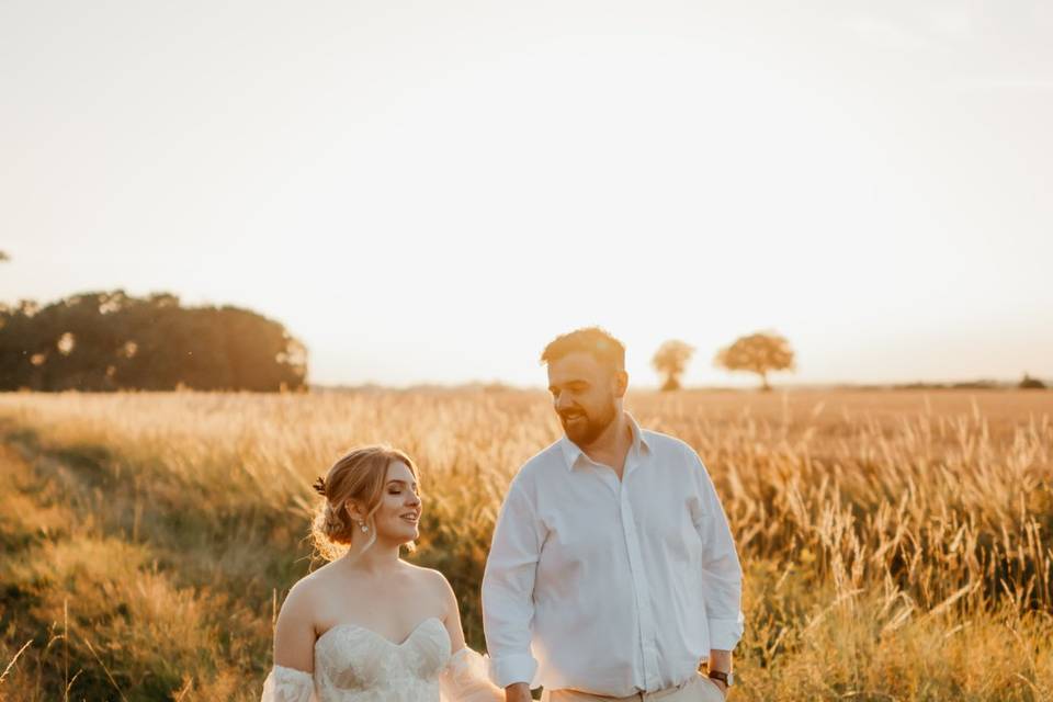
<svg viewBox="0 0 1053 702">
<path fill-rule="evenodd" d="M 567 439 L 588 445 L 614 421 L 624 375 L 591 353 L 568 353 L 548 363 L 548 392 Z"/>
</svg>

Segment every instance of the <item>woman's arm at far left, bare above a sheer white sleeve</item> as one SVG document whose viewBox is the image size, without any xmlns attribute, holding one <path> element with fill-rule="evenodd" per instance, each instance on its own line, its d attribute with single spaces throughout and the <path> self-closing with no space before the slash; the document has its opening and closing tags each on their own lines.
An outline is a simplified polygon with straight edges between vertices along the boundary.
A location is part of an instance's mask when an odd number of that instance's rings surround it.
<svg viewBox="0 0 1053 702">
<path fill-rule="evenodd" d="M 315 625 L 308 588 L 299 582 L 282 604 L 274 627 L 274 668 L 260 702 L 314 702 Z"/>
</svg>

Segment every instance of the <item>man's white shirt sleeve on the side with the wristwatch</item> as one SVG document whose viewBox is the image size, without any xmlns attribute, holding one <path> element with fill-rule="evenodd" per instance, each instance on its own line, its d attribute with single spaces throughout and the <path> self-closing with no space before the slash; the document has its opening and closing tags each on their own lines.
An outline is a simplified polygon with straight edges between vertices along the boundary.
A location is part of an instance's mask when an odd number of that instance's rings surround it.
<svg viewBox="0 0 1053 702">
<path fill-rule="evenodd" d="M 709 620 L 710 647 L 732 650 L 744 631 L 743 568 L 713 479 L 698 454 L 690 448 L 687 453 L 697 468 L 700 492 L 701 509 L 693 521 L 702 541 L 702 599 Z"/>
</svg>

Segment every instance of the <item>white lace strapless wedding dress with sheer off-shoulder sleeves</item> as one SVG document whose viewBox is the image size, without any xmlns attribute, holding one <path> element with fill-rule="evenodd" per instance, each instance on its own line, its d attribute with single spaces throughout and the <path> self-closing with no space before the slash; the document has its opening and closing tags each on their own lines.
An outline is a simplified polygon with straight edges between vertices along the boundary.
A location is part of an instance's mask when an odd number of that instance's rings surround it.
<svg viewBox="0 0 1053 702">
<path fill-rule="evenodd" d="M 426 619 L 400 644 L 361 626 L 315 642 L 315 672 L 274 666 L 260 702 L 495 702 L 503 693 L 471 648 L 450 654 L 442 621 Z"/>
</svg>

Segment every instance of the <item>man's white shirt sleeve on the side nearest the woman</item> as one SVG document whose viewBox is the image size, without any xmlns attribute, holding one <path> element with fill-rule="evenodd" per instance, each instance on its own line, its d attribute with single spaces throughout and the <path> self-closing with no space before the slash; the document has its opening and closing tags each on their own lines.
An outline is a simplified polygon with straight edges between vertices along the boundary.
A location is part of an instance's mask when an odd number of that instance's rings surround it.
<svg viewBox="0 0 1053 702">
<path fill-rule="evenodd" d="M 530 650 L 534 578 L 542 525 L 529 496 L 516 482 L 501 506 L 483 575 L 483 627 L 490 678 L 503 688 L 533 683 L 537 661 Z"/>
</svg>

